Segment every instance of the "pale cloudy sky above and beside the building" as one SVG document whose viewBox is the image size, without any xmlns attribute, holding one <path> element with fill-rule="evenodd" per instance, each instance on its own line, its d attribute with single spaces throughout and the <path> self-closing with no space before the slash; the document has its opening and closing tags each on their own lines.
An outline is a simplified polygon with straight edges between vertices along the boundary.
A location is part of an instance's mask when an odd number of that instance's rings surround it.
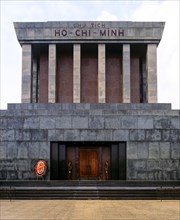
<svg viewBox="0 0 180 220">
<path fill-rule="evenodd" d="M 180 109 L 180 1 L 0 0 L 0 109 L 21 102 L 22 54 L 13 22 L 163 21 L 157 48 L 158 102 Z"/>
</svg>

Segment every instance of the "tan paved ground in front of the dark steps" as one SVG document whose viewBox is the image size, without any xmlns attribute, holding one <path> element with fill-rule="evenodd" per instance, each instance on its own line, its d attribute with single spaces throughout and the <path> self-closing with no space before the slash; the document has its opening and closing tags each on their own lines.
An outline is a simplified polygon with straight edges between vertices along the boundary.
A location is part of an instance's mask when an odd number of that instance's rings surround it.
<svg viewBox="0 0 180 220">
<path fill-rule="evenodd" d="M 23 209 L 22 209 L 23 207 Z M 39 209 L 46 212 L 39 212 Z M 33 210 L 33 214 L 32 214 Z M 152 211 L 153 210 L 153 211 Z M 178 200 L 2 200 L 2 219 L 177 220 Z"/>
</svg>

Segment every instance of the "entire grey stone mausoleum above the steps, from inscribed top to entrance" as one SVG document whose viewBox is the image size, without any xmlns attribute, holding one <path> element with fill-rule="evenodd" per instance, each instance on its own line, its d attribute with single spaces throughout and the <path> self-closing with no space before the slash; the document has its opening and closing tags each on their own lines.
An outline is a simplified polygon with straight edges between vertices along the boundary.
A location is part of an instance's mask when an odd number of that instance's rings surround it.
<svg viewBox="0 0 180 220">
<path fill-rule="evenodd" d="M 0 179 L 179 180 L 180 110 L 157 103 L 164 22 L 15 22 L 22 103 L 0 112 Z"/>
</svg>

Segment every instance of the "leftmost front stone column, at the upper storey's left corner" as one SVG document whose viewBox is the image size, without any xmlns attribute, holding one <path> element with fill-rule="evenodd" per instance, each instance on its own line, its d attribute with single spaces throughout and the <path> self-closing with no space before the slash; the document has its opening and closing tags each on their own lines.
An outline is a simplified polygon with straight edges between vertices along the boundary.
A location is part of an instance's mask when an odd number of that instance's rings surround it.
<svg viewBox="0 0 180 220">
<path fill-rule="evenodd" d="M 31 102 L 31 68 L 32 68 L 31 44 L 22 45 L 22 103 Z"/>
</svg>

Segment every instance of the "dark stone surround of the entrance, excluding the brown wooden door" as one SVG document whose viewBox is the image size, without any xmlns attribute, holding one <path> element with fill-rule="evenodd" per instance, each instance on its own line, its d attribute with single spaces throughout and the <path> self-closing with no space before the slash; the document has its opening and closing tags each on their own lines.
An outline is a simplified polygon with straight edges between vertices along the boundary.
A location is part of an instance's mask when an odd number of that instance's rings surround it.
<svg viewBox="0 0 180 220">
<path fill-rule="evenodd" d="M 51 142 L 50 143 L 50 179 L 67 180 L 69 160 L 68 149 L 73 149 L 73 180 L 80 178 L 80 149 L 98 150 L 98 179 L 105 180 L 105 158 L 108 156 L 109 179 L 127 179 L 127 143 L 126 142 Z M 55 156 L 56 155 L 56 156 Z M 55 160 L 53 161 L 53 157 Z"/>
</svg>

